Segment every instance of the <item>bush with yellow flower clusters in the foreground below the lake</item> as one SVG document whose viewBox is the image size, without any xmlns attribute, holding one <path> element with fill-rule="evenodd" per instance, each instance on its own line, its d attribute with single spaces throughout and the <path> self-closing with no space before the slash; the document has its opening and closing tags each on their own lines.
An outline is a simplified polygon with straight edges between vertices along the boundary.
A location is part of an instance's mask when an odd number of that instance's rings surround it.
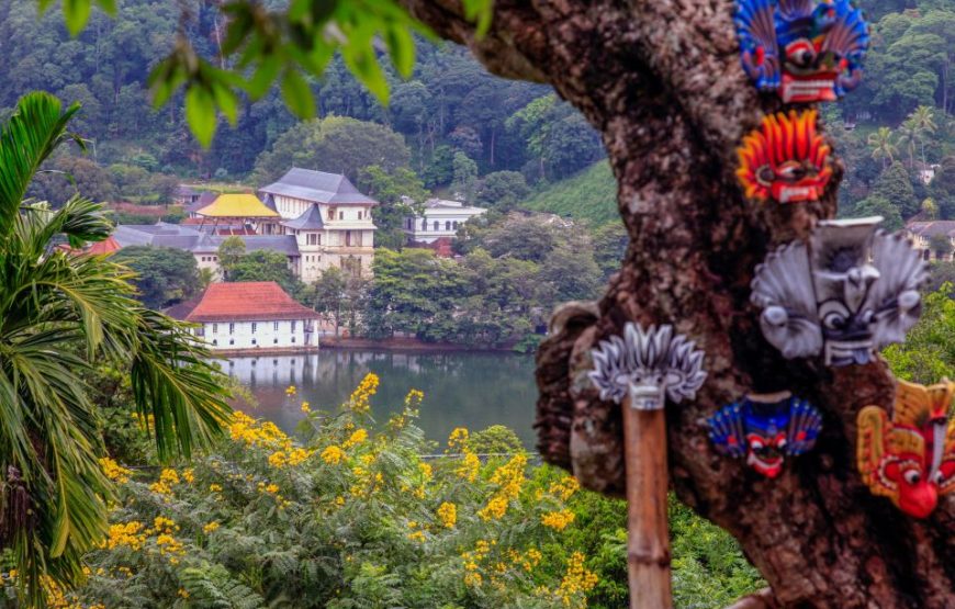
<svg viewBox="0 0 955 609">
<path fill-rule="evenodd" d="M 339 410 L 308 408 L 302 441 L 237 413 L 188 467 L 136 474 L 103 459 L 119 485 L 111 526 L 59 607 L 627 604 L 620 501 L 524 452 L 481 456 L 465 429 L 426 460 L 420 392 L 374 426 L 377 387 L 369 375 Z"/>
</svg>

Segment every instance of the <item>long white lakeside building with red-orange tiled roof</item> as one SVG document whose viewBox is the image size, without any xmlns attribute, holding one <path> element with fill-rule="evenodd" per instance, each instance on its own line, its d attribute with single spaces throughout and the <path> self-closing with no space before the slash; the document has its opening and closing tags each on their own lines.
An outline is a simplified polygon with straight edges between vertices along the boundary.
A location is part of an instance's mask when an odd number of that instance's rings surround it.
<svg viewBox="0 0 955 609">
<path fill-rule="evenodd" d="M 278 283 L 213 283 L 195 301 L 167 313 L 199 324 L 193 334 L 213 350 L 307 350 L 318 346 L 318 314 Z"/>
</svg>

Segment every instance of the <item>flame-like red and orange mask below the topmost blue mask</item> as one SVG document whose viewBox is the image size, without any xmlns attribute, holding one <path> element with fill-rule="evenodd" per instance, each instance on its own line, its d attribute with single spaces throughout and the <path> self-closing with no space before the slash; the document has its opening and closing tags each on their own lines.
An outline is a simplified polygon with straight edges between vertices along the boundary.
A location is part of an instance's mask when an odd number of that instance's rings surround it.
<svg viewBox="0 0 955 609">
<path fill-rule="evenodd" d="M 817 201 L 832 177 L 830 148 L 816 133 L 816 111 L 782 112 L 743 137 L 737 177 L 749 199 L 779 203 Z"/>
</svg>

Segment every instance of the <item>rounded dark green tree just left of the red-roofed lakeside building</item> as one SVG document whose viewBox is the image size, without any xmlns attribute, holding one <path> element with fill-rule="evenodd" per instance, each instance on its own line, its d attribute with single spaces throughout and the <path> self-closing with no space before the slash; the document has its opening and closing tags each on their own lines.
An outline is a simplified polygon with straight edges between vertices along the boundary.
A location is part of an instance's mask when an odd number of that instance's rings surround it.
<svg viewBox="0 0 955 609">
<path fill-rule="evenodd" d="M 188 301 L 201 289 L 195 257 L 181 249 L 132 246 L 114 253 L 113 261 L 135 271 L 139 302 L 156 311 Z"/>
</svg>

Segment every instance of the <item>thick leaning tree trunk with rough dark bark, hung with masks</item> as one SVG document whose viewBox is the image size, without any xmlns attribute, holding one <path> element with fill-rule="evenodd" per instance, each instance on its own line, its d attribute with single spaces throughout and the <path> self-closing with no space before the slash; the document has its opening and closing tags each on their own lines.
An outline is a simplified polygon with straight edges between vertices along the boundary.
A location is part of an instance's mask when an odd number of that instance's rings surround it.
<svg viewBox="0 0 955 609">
<path fill-rule="evenodd" d="M 672 323 L 706 350 L 709 372 L 694 403 L 666 409 L 673 489 L 740 541 L 775 602 L 955 607 L 955 498 L 917 521 L 870 495 L 856 471 L 856 414 L 892 402 L 886 365 L 785 361 L 760 332 L 755 266 L 835 215 L 841 171 L 818 203 L 742 198 L 735 147 L 779 102 L 740 68 L 732 2 L 496 0 L 478 40 L 456 0 L 402 1 L 492 71 L 553 84 L 603 134 L 619 184 L 622 268 L 598 309 L 559 312 L 538 351 L 544 458 L 588 488 L 622 493 L 620 410 L 586 381 L 588 353 L 627 320 Z M 783 390 L 822 410 L 816 450 L 773 481 L 719 456 L 706 417 L 748 392 Z"/>
</svg>

